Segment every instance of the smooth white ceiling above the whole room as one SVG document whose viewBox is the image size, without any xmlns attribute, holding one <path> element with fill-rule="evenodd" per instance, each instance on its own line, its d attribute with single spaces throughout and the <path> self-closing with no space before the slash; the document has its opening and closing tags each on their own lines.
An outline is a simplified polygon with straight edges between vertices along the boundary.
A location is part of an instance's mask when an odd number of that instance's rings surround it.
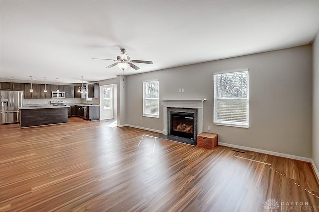
<svg viewBox="0 0 319 212">
<path fill-rule="evenodd" d="M 319 1 L 0 1 L 2 80 L 79 83 L 309 44 Z M 196 71 L 196 70 L 194 70 Z"/>
</svg>

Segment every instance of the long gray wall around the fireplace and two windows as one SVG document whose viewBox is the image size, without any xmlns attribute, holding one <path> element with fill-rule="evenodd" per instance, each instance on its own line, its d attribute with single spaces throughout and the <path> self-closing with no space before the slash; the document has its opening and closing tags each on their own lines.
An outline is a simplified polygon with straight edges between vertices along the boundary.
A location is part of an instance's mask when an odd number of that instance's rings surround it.
<svg viewBox="0 0 319 212">
<path fill-rule="evenodd" d="M 241 68 L 249 69 L 249 129 L 213 125 L 213 72 Z M 163 130 L 161 102 L 159 118 L 142 117 L 142 82 L 155 79 L 160 99 L 207 98 L 203 128 L 220 142 L 311 157 L 310 45 L 127 76 L 126 124 Z"/>
</svg>

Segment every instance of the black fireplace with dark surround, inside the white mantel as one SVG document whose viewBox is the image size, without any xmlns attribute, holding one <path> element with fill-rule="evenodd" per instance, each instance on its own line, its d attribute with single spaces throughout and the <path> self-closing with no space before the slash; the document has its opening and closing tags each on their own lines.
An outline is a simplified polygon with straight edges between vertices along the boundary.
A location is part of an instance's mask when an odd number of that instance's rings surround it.
<svg viewBox="0 0 319 212">
<path fill-rule="evenodd" d="M 196 140 L 197 109 L 168 108 L 168 135 Z"/>
</svg>

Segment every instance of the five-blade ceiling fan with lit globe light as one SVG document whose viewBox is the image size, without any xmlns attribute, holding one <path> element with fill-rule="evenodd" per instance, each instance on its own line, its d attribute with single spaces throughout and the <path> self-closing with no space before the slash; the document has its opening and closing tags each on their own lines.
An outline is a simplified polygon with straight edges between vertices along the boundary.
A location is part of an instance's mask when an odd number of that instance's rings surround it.
<svg viewBox="0 0 319 212">
<path fill-rule="evenodd" d="M 140 67 L 134 65 L 133 63 L 146 63 L 146 64 L 153 64 L 152 61 L 147 61 L 147 60 L 130 60 L 130 57 L 125 54 L 126 49 L 121 48 L 121 53 L 119 56 L 117 56 L 116 60 L 113 59 L 104 59 L 104 58 L 92 58 L 93 60 L 113 60 L 113 61 L 117 61 L 116 63 L 113 63 L 109 66 L 107 66 L 106 68 L 111 68 L 113 66 L 117 66 L 118 68 L 124 70 L 129 68 L 129 66 L 131 66 L 132 68 L 134 68 L 135 70 L 140 69 Z"/>
</svg>

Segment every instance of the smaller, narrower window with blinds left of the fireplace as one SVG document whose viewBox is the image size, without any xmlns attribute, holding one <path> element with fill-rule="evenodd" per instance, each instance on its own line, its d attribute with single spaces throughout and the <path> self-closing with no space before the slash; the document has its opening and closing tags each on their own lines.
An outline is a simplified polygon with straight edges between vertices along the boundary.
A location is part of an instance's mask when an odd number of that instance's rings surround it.
<svg viewBox="0 0 319 212">
<path fill-rule="evenodd" d="M 159 81 L 143 82 L 143 116 L 159 117 Z"/>
</svg>

